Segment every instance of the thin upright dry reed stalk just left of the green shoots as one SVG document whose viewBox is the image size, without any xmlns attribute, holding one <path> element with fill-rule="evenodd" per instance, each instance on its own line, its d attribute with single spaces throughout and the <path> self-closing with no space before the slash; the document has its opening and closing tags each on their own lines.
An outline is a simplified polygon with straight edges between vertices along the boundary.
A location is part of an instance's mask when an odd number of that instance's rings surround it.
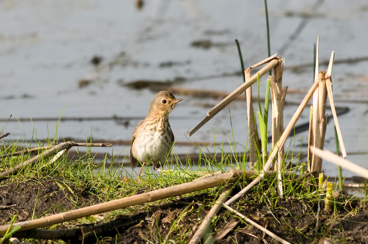
<svg viewBox="0 0 368 244">
<path fill-rule="evenodd" d="M 245 80 L 251 78 L 250 68 L 245 69 Z M 247 94 L 247 115 L 248 115 L 248 138 L 249 138 L 249 168 L 252 169 L 255 164 L 255 121 L 254 121 L 254 110 L 253 110 L 253 97 L 252 97 L 252 86 L 245 90 Z"/>
</svg>

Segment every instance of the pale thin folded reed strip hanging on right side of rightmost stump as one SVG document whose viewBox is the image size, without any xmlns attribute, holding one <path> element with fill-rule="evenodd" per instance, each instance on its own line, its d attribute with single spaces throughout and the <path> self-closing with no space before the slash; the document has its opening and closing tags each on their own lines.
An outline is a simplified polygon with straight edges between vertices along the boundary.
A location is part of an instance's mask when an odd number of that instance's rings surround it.
<svg viewBox="0 0 368 244">
<path fill-rule="evenodd" d="M 332 115 L 333 115 L 333 120 L 334 120 L 335 126 L 336 126 L 337 138 L 339 139 L 339 143 L 340 143 L 341 154 L 343 155 L 343 158 L 346 158 L 346 149 L 345 149 L 345 146 L 344 146 L 344 141 L 343 141 L 343 136 L 341 134 L 339 121 L 337 120 L 335 104 L 333 103 L 333 96 L 332 96 L 331 73 L 332 73 L 332 64 L 333 64 L 334 55 L 335 55 L 335 52 L 332 51 L 331 58 L 330 58 L 330 63 L 328 65 L 328 69 L 327 69 L 326 88 L 327 88 L 328 100 L 330 102 L 331 111 L 332 111 Z"/>
</svg>

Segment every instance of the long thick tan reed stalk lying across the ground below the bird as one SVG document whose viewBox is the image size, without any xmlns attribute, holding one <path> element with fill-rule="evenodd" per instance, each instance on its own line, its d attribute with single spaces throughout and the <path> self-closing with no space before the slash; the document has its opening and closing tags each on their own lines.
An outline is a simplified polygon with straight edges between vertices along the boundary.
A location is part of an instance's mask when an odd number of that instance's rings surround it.
<svg viewBox="0 0 368 244">
<path fill-rule="evenodd" d="M 14 223 L 11 228 L 15 226 L 20 226 L 20 231 L 36 229 L 40 227 L 46 227 L 55 225 L 58 223 L 63 223 L 69 220 L 87 217 L 90 215 L 101 214 L 103 212 L 108 212 L 116 209 L 126 208 L 133 205 L 143 204 L 146 202 L 157 201 L 165 199 L 168 197 L 175 197 L 182 194 L 191 193 L 194 191 L 204 190 L 208 188 L 213 188 L 216 186 L 224 186 L 226 184 L 235 183 L 245 175 L 244 171 L 241 170 L 231 170 L 222 175 L 213 176 L 207 179 L 198 180 L 195 182 L 183 183 L 175 186 L 166 187 L 163 189 L 158 189 L 154 191 L 149 191 L 146 193 L 141 193 L 137 195 L 131 195 L 129 197 L 104 202 L 89 207 L 84 207 L 80 209 L 71 210 L 68 212 L 46 216 L 45 218 L 33 219 L 24 222 Z M 9 225 L 0 226 L 0 235 L 6 233 Z"/>
</svg>

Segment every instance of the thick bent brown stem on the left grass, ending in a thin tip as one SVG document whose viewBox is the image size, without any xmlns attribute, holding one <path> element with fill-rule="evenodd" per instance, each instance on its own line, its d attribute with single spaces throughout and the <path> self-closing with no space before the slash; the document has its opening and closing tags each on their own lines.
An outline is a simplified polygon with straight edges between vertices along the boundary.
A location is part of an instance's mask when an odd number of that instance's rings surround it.
<svg viewBox="0 0 368 244">
<path fill-rule="evenodd" d="M 111 147 L 112 144 L 111 143 L 75 143 L 74 141 L 67 141 L 67 142 L 63 142 L 60 143 L 56 146 L 53 146 L 51 148 L 49 148 L 49 150 L 36 155 L 35 157 L 24 161 L 22 164 L 18 164 L 17 166 L 15 166 L 14 168 L 11 169 L 6 169 L 5 171 L 0 173 L 0 180 L 4 179 L 7 176 L 10 175 L 16 175 L 18 173 L 18 171 L 20 171 L 21 169 L 24 169 L 32 164 L 35 164 L 40 158 L 49 158 L 52 157 L 53 155 L 59 153 L 60 151 L 63 151 L 64 149 L 69 150 L 71 147 L 74 146 L 82 146 L 82 147 Z"/>
</svg>

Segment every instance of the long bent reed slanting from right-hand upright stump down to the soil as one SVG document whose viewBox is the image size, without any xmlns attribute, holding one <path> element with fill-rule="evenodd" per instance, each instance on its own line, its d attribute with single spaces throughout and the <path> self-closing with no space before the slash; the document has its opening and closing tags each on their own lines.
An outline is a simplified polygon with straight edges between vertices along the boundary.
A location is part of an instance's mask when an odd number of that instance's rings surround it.
<svg viewBox="0 0 368 244">
<path fill-rule="evenodd" d="M 293 117 L 291 118 L 289 124 L 286 126 L 284 133 L 282 133 L 280 140 L 277 142 L 276 147 L 273 148 L 266 164 L 263 166 L 263 170 L 261 171 L 261 173 L 259 173 L 258 177 L 256 177 L 256 179 L 254 179 L 250 184 L 248 184 L 248 186 L 246 186 L 243 190 L 241 190 L 240 192 L 238 192 L 236 195 L 234 195 L 234 197 L 230 198 L 229 200 L 227 200 L 224 204 L 226 205 L 230 205 L 231 203 L 233 203 L 234 201 L 236 201 L 238 198 L 242 197 L 247 191 L 249 191 L 253 186 L 255 186 L 256 184 L 258 184 L 259 180 L 262 179 L 265 176 L 265 171 L 269 168 L 269 166 L 271 165 L 271 163 L 275 160 L 276 154 L 278 152 L 278 148 L 281 148 L 284 146 L 287 137 L 289 137 L 289 134 L 291 133 L 291 131 L 293 130 L 296 122 L 298 121 L 300 115 L 302 114 L 305 106 L 307 106 L 309 100 L 311 99 L 314 91 L 317 89 L 318 87 L 318 82 L 315 82 L 311 89 L 309 89 L 307 95 L 304 97 L 303 101 L 301 102 L 301 104 L 299 105 L 297 111 L 294 113 Z"/>
</svg>

